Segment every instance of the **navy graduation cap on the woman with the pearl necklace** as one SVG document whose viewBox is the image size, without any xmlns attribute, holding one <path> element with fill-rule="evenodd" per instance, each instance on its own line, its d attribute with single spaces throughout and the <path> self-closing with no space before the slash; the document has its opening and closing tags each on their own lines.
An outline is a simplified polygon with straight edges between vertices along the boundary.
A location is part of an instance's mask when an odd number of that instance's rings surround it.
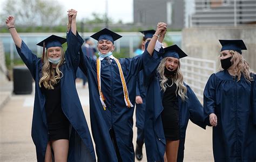
<svg viewBox="0 0 256 162">
<path fill-rule="evenodd" d="M 186 57 L 187 54 L 185 52 L 183 52 L 183 50 L 181 50 L 179 48 L 178 45 L 174 44 L 174 45 L 171 45 L 167 48 L 164 48 L 164 55 L 163 55 L 163 58 L 165 57 L 175 57 L 175 58 L 183 58 L 183 57 Z"/>
</svg>

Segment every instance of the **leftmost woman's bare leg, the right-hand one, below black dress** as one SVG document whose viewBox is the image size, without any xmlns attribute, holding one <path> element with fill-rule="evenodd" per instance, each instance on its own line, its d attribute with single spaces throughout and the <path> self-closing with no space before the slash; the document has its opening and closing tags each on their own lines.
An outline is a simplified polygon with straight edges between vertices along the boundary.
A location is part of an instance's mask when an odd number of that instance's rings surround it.
<svg viewBox="0 0 256 162">
<path fill-rule="evenodd" d="M 55 162 L 68 161 L 69 140 L 58 139 L 52 141 Z"/>
</svg>

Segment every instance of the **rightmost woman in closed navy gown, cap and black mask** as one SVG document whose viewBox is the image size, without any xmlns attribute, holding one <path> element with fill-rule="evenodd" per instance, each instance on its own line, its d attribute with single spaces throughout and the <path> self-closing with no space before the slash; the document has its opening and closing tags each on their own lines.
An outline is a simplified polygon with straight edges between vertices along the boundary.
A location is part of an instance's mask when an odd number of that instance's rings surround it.
<svg viewBox="0 0 256 162">
<path fill-rule="evenodd" d="M 204 113 L 213 126 L 215 161 L 256 161 L 255 73 L 242 57 L 242 40 L 219 40 L 222 69 L 204 90 Z"/>
</svg>

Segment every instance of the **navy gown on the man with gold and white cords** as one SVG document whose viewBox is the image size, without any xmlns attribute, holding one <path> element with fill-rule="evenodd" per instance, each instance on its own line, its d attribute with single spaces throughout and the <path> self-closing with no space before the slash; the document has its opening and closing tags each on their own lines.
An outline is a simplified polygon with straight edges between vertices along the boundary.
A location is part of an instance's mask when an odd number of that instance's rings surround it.
<svg viewBox="0 0 256 162">
<path fill-rule="evenodd" d="M 143 55 L 119 59 L 133 105 L 136 97 L 137 73 L 143 68 L 142 58 Z M 112 60 L 112 63 L 108 64 L 107 60 L 103 59 L 101 66 L 102 92 L 106 99 L 105 111 L 99 99 L 96 60 L 87 56 L 80 58 L 79 67 L 87 76 L 89 84 L 91 128 L 97 158 L 99 161 L 117 161 L 109 134 L 109 130 L 113 129 L 122 160 L 134 161 L 132 144 L 134 107 L 129 108 L 125 105 L 123 86 L 116 61 Z"/>
</svg>

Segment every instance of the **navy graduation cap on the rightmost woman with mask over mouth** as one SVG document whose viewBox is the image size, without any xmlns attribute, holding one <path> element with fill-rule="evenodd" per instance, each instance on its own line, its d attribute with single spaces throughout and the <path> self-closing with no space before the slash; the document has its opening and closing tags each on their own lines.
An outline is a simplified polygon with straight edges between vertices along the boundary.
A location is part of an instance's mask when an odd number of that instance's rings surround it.
<svg viewBox="0 0 256 162">
<path fill-rule="evenodd" d="M 242 54 L 241 50 L 247 50 L 244 41 L 240 40 L 219 40 L 222 48 L 220 51 L 224 50 L 234 50 Z"/>
</svg>

